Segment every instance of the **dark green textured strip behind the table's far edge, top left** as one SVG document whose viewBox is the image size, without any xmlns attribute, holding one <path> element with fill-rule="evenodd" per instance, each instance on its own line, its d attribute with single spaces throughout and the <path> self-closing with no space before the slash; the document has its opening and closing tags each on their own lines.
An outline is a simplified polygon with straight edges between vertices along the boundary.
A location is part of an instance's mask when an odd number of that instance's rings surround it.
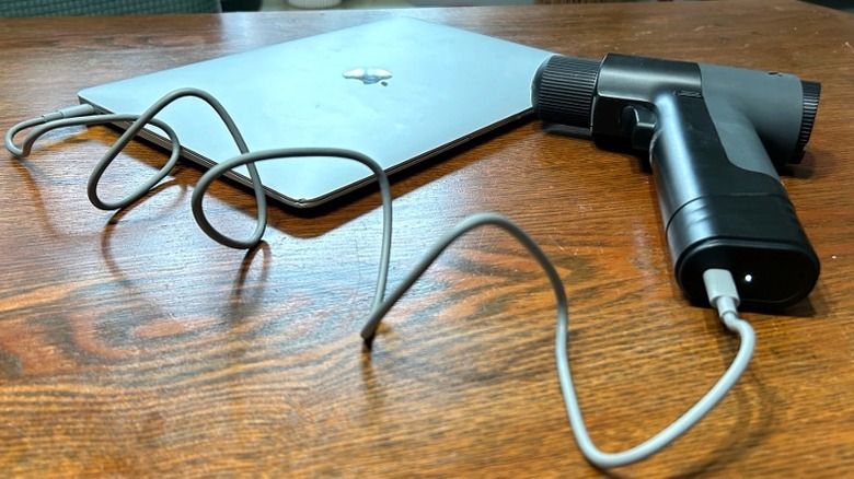
<svg viewBox="0 0 854 479">
<path fill-rule="evenodd" d="M 221 12 L 220 0 L 0 0 L 0 17 Z"/>
</svg>

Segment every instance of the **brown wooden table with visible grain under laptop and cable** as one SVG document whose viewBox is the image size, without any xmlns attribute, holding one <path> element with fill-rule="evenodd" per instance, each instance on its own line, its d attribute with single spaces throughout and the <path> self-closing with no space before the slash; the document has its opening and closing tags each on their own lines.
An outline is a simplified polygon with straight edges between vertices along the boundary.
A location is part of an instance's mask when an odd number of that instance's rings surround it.
<svg viewBox="0 0 854 479">
<path fill-rule="evenodd" d="M 0 21 L 0 127 L 85 86 L 397 15 L 566 55 L 609 51 L 781 70 L 823 83 L 784 183 L 822 261 L 807 301 L 746 313 L 737 388 L 626 477 L 854 474 L 854 17 L 794 1 L 538 5 Z M 0 470 L 30 477 L 599 474 L 567 424 L 554 300 L 496 230 L 453 246 L 368 352 L 379 195 L 315 218 L 270 210 L 256 252 L 196 226 L 181 167 L 118 213 L 85 178 L 116 135 L 77 128 L 0 165 Z M 160 153 L 135 145 L 114 184 Z M 501 212 L 556 262 L 593 440 L 634 445 L 713 384 L 738 340 L 677 288 L 653 178 L 631 156 L 505 131 L 397 178 L 391 284 L 465 215 Z M 226 184 L 209 209 L 251 224 Z"/>
</svg>

